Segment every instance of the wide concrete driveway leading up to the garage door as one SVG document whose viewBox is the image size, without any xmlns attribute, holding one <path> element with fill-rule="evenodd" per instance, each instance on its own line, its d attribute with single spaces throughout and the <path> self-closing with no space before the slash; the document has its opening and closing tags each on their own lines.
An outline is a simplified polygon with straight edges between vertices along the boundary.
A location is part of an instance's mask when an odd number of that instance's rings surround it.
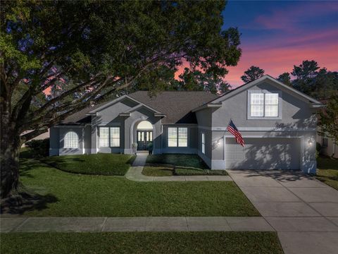
<svg viewBox="0 0 338 254">
<path fill-rule="evenodd" d="M 228 170 L 286 254 L 338 253 L 338 191 L 299 171 Z"/>
</svg>

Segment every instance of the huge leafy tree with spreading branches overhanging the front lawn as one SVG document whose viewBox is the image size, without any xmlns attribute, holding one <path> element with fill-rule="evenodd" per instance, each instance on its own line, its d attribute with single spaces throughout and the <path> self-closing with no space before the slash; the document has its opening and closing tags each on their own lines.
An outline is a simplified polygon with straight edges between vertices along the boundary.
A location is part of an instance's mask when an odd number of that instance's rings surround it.
<svg viewBox="0 0 338 254">
<path fill-rule="evenodd" d="M 238 30 L 222 30 L 224 8 L 224 1 L 2 1 L 1 197 L 18 187 L 20 145 L 70 114 L 182 61 L 224 77 L 241 56 Z M 34 131 L 20 136 L 26 130 Z"/>
</svg>

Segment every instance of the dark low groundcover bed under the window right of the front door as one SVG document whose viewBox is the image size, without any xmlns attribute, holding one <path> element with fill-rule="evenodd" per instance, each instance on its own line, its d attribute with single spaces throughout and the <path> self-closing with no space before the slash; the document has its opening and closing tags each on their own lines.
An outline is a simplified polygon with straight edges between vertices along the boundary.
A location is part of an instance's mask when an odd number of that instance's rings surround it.
<svg viewBox="0 0 338 254">
<path fill-rule="evenodd" d="M 176 167 L 193 167 L 196 169 L 208 169 L 208 166 L 198 155 L 163 154 L 150 155 L 146 158 L 149 164 L 172 164 Z"/>
</svg>

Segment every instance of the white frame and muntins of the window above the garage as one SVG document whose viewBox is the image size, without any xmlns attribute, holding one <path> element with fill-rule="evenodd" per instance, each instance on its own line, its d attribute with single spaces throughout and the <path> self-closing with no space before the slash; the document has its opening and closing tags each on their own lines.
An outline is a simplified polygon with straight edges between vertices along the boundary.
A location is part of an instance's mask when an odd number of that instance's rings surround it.
<svg viewBox="0 0 338 254">
<path fill-rule="evenodd" d="M 251 116 L 251 95 L 252 94 L 263 94 L 263 116 Z M 278 94 L 278 104 L 277 104 L 277 116 L 266 116 L 265 114 L 265 107 L 268 104 L 265 104 L 265 95 L 266 94 Z M 273 104 L 271 104 L 273 105 Z M 268 90 L 248 90 L 248 97 L 247 97 L 247 119 L 248 120 L 280 120 L 282 119 L 282 91 L 268 91 Z"/>
</svg>

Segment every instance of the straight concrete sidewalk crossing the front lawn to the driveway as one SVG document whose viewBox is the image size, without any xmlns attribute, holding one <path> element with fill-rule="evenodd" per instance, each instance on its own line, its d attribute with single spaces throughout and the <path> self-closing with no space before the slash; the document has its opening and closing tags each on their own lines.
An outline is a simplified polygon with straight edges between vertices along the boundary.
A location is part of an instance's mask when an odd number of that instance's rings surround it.
<svg viewBox="0 0 338 254">
<path fill-rule="evenodd" d="M 262 217 L 4 217 L 1 232 L 274 231 Z"/>
</svg>

